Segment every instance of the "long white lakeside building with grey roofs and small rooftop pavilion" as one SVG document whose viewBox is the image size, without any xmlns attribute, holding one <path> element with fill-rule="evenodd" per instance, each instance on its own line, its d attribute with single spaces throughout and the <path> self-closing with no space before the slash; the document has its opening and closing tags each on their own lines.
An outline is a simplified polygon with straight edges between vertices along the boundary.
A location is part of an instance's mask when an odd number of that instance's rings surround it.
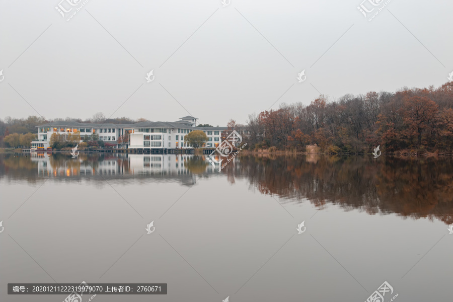
<svg viewBox="0 0 453 302">
<path fill-rule="evenodd" d="M 93 133 L 99 140 L 114 144 L 116 148 L 128 149 L 176 149 L 191 148 L 184 142 L 184 136 L 194 130 L 206 133 L 208 140 L 204 147 L 217 147 L 221 142 L 221 134 L 228 127 L 195 127 L 198 118 L 185 116 L 176 122 L 140 122 L 135 124 L 91 124 L 79 122 L 56 121 L 38 127 L 38 139 L 32 141 L 32 147 L 50 147 L 53 133 L 67 137 L 79 131 L 81 138 Z M 119 144 L 119 136 L 129 134 L 129 141 Z M 82 141 L 82 140 L 81 140 Z"/>
</svg>

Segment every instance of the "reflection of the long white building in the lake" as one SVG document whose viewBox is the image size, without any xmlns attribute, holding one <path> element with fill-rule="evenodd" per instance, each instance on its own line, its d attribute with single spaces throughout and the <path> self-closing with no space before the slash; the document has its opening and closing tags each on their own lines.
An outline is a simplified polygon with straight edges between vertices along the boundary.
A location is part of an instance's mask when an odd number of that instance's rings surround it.
<svg viewBox="0 0 453 302">
<path fill-rule="evenodd" d="M 32 153 L 41 177 L 191 175 L 217 173 L 204 157 L 184 154 L 81 154 L 73 159 L 65 154 Z M 218 169 L 218 168 L 217 168 Z"/>
</svg>

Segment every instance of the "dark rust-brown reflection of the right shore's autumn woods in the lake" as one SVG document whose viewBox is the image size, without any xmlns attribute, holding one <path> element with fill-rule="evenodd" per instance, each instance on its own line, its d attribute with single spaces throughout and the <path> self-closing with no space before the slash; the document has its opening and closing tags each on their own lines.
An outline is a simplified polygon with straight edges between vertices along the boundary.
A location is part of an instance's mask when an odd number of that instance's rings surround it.
<svg viewBox="0 0 453 302">
<path fill-rule="evenodd" d="M 453 222 L 453 168 L 450 158 L 295 156 L 241 157 L 236 176 L 244 176 L 262 194 L 326 202 L 369 214 L 438 218 Z"/>
</svg>

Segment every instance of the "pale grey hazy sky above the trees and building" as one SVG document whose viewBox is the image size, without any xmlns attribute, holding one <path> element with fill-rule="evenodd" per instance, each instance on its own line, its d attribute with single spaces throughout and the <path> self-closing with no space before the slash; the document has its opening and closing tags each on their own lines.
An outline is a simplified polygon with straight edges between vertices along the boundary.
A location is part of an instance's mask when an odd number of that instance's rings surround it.
<svg viewBox="0 0 453 302">
<path fill-rule="evenodd" d="M 61 2 L 63 18 L 59 1 L 0 0 L 0 118 L 225 125 L 320 93 L 438 87 L 453 71 L 452 1 L 392 0 L 371 22 L 362 0 L 90 0 L 70 21 L 83 2 Z"/>
</svg>

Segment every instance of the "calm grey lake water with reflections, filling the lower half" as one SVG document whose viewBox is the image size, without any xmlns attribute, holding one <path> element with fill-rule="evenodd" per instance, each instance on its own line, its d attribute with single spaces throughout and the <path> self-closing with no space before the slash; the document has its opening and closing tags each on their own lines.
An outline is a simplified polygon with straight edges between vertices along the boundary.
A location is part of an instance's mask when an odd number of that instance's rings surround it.
<svg viewBox="0 0 453 302">
<path fill-rule="evenodd" d="M 243 156 L 217 169 L 189 155 L 0 154 L 0 300 L 65 298 L 7 283 L 86 281 L 168 283 L 99 302 L 363 302 L 387 281 L 385 302 L 451 301 L 451 158 Z"/>
</svg>

